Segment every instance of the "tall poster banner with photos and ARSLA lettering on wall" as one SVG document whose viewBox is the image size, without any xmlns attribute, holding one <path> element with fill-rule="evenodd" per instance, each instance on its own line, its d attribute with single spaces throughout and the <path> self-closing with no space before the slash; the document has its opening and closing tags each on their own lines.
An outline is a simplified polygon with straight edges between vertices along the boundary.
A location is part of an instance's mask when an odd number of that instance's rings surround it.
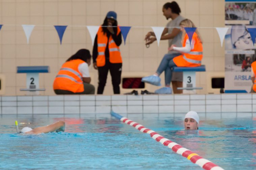
<svg viewBox="0 0 256 170">
<path fill-rule="evenodd" d="M 225 92 L 251 92 L 251 63 L 256 60 L 248 28 L 256 26 L 256 3 L 250 0 L 225 1 Z"/>
</svg>

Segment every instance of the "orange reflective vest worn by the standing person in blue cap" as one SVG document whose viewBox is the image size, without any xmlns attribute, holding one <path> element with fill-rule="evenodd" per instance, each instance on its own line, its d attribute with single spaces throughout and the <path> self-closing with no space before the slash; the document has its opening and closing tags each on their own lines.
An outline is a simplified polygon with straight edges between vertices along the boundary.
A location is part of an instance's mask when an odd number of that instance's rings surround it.
<svg viewBox="0 0 256 170">
<path fill-rule="evenodd" d="M 120 33 L 120 28 L 117 27 L 117 34 Z M 102 27 L 99 27 L 98 33 L 97 33 L 97 45 L 98 45 L 98 56 L 96 58 L 97 67 L 103 67 L 105 66 L 105 50 L 107 47 L 109 47 L 109 61 L 111 63 L 122 63 L 122 57 L 119 50 L 119 47 L 116 45 L 115 41 L 113 40 L 112 36 L 110 35 L 109 41 L 108 37 L 103 32 Z"/>
</svg>

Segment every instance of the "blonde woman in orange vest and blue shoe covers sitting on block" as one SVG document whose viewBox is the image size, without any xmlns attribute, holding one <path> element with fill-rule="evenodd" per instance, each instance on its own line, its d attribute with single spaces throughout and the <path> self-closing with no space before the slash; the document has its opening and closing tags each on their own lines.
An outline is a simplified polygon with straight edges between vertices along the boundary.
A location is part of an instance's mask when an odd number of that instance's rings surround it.
<svg viewBox="0 0 256 170">
<path fill-rule="evenodd" d="M 158 94 L 171 94 L 170 82 L 172 78 L 172 68 L 177 67 L 198 67 L 201 66 L 201 60 L 203 58 L 203 45 L 202 39 L 199 32 L 196 30 L 192 36 L 191 43 L 189 41 L 189 36 L 186 33 L 184 27 L 196 28 L 194 23 L 190 19 L 184 19 L 180 22 L 180 31 L 182 31 L 182 47 L 176 47 L 171 45 L 170 51 L 175 50 L 181 53 L 181 55 L 166 54 L 162 59 L 158 70 L 154 75 L 143 77 L 142 81 L 150 83 L 153 85 L 160 86 L 160 74 L 165 71 L 167 77 L 169 77 L 168 82 L 166 82 L 166 87 L 155 90 Z M 167 81 L 167 80 L 166 80 Z"/>
</svg>

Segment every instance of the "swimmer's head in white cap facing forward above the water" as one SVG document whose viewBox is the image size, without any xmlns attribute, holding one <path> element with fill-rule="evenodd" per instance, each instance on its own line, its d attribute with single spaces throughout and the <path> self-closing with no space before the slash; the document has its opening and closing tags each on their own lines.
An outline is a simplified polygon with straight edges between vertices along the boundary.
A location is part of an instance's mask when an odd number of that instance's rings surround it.
<svg viewBox="0 0 256 170">
<path fill-rule="evenodd" d="M 199 124 L 199 116 L 195 111 L 189 111 L 184 118 L 185 130 L 197 130 Z"/>
</svg>

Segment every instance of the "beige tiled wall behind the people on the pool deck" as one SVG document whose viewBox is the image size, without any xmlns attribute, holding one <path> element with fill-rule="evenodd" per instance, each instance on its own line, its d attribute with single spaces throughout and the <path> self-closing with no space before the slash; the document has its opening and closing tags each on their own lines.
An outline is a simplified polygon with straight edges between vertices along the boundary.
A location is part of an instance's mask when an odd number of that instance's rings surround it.
<svg viewBox="0 0 256 170">
<path fill-rule="evenodd" d="M 167 41 L 146 48 L 144 35 L 152 31 L 149 26 L 165 26 L 168 22 L 162 14 L 166 0 L 1 0 L 0 23 L 0 73 L 6 76 L 5 95 L 24 95 L 20 91 L 26 85 L 26 75 L 16 74 L 17 66 L 50 66 L 51 73 L 40 74 L 41 95 L 54 95 L 53 80 L 62 63 L 80 48 L 92 50 L 86 25 L 101 25 L 109 10 L 117 12 L 121 26 L 132 28 L 120 49 L 123 72 L 152 74 L 167 52 Z M 224 27 L 224 0 L 177 0 L 181 15 L 193 20 L 197 27 Z M 36 25 L 27 44 L 22 24 Z M 68 25 L 59 44 L 53 25 Z M 224 47 L 221 47 L 217 31 L 199 29 L 204 46 L 202 63 L 207 72 L 197 73 L 198 86 L 206 94 L 206 77 L 210 72 L 224 72 Z M 97 72 L 90 67 L 92 84 L 97 86 Z M 163 75 L 162 75 L 162 81 Z M 162 82 L 163 84 L 163 82 Z M 150 86 L 150 91 L 157 87 Z M 104 94 L 113 94 L 110 75 Z"/>
</svg>

